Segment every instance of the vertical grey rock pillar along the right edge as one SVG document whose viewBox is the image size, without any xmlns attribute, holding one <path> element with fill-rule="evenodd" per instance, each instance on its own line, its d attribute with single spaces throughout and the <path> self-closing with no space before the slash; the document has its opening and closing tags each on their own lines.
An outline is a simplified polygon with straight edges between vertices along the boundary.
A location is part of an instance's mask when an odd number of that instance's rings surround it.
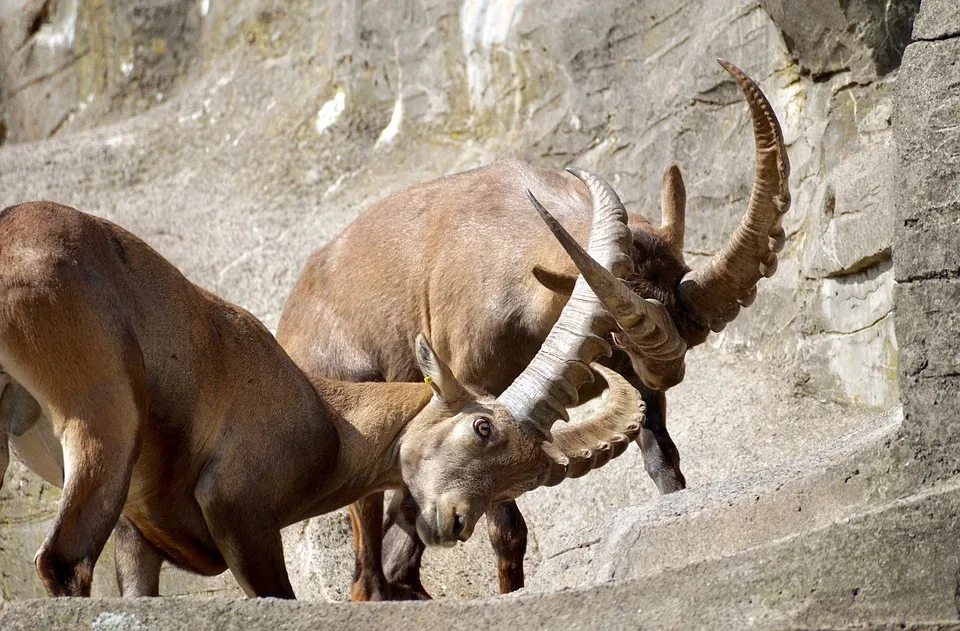
<svg viewBox="0 0 960 631">
<path fill-rule="evenodd" d="M 920 17 L 894 119 L 896 326 L 914 470 L 928 482 L 956 475 L 960 440 L 960 12 L 930 1 Z"/>
</svg>

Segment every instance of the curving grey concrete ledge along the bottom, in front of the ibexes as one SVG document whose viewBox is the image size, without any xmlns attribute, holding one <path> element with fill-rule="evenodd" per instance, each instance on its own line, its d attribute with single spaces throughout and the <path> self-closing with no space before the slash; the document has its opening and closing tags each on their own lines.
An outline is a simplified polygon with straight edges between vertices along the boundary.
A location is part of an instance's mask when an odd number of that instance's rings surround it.
<svg viewBox="0 0 960 631">
<path fill-rule="evenodd" d="M 960 628 L 946 622 L 957 617 L 958 515 L 954 482 L 769 546 L 581 590 L 384 604 L 28 600 L 7 603 L 0 628 Z"/>
</svg>

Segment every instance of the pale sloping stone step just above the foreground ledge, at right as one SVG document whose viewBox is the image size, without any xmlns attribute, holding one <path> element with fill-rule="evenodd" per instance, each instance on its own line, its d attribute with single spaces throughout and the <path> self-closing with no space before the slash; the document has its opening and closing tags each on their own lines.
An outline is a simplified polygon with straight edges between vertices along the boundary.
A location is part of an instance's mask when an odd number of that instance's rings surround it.
<svg viewBox="0 0 960 631">
<path fill-rule="evenodd" d="M 901 420 L 893 409 L 794 462 L 623 508 L 544 559 L 528 590 L 650 577 L 861 514 L 898 493 L 888 445 Z"/>
</svg>

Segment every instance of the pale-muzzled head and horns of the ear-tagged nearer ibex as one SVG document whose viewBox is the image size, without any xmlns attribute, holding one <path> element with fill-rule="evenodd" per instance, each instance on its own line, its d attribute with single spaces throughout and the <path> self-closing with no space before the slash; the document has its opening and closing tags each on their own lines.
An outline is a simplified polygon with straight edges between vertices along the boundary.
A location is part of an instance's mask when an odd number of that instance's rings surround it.
<svg viewBox="0 0 960 631">
<path fill-rule="evenodd" d="M 609 185 L 585 171 L 575 174 L 593 198 L 588 257 L 601 268 L 619 268 L 628 260 L 626 213 Z M 533 201 L 544 220 L 556 224 Z M 407 426 L 400 467 L 418 504 L 417 531 L 424 542 L 465 541 L 491 503 L 583 475 L 626 449 L 640 431 L 643 402 L 623 377 L 592 364 L 610 353 L 603 336 L 612 325 L 597 296 L 578 280 L 540 351 L 497 398 L 468 391 L 418 337 L 417 360 L 434 395 Z M 579 425 L 552 431 L 595 374 L 610 387 L 602 409 Z"/>
</svg>

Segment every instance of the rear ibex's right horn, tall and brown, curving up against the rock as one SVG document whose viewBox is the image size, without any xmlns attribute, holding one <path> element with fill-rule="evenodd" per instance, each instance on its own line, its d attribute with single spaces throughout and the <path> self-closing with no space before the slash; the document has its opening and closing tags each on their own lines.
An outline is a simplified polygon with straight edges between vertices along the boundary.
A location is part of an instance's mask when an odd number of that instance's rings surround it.
<svg viewBox="0 0 960 631">
<path fill-rule="evenodd" d="M 695 309 L 713 331 L 749 306 L 761 278 L 777 271 L 783 248 L 781 218 L 790 208 L 790 161 L 783 133 L 767 97 L 733 64 L 717 60 L 733 75 L 750 105 L 757 145 L 756 175 L 747 213 L 727 245 L 704 267 L 687 274 L 678 288 L 681 300 Z"/>
</svg>

